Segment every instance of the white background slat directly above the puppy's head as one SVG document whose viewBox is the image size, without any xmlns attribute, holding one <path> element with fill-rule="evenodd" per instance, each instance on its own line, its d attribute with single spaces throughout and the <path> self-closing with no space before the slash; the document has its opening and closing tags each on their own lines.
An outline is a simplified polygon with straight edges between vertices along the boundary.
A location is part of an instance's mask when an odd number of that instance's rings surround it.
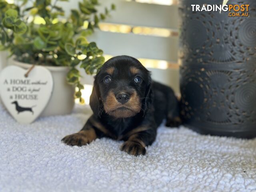
<svg viewBox="0 0 256 192">
<path fill-rule="evenodd" d="M 177 62 L 177 37 L 156 37 L 133 33 L 113 33 L 96 30 L 89 37 L 109 55 L 130 55 L 135 58 L 149 58 Z"/>
</svg>

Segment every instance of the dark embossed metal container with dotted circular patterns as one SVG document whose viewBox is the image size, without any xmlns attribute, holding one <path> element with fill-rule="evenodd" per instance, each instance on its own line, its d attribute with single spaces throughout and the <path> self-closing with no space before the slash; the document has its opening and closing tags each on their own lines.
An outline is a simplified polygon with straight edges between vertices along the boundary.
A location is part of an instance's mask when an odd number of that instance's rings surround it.
<svg viewBox="0 0 256 192">
<path fill-rule="evenodd" d="M 248 17 L 228 12 L 192 12 L 180 0 L 180 91 L 184 124 L 202 134 L 256 137 L 256 1 Z"/>
</svg>

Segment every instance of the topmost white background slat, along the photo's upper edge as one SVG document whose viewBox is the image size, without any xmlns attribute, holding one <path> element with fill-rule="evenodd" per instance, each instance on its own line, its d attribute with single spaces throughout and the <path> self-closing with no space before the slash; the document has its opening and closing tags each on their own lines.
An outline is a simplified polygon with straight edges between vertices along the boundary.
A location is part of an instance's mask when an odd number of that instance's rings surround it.
<svg viewBox="0 0 256 192">
<path fill-rule="evenodd" d="M 178 28 L 177 5 L 165 6 L 124 0 L 102 0 L 101 6 L 108 6 L 109 2 L 116 4 L 116 11 L 106 22 L 118 24 L 132 24 L 135 26 L 149 26 L 158 28 Z"/>
</svg>

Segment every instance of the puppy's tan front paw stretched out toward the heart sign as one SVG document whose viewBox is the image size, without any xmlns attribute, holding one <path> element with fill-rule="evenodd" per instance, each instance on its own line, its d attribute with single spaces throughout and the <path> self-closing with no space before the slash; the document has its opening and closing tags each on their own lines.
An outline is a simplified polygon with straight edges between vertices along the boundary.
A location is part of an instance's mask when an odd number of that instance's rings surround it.
<svg viewBox="0 0 256 192">
<path fill-rule="evenodd" d="M 82 146 L 86 145 L 90 142 L 92 142 L 96 138 L 95 132 L 89 132 L 90 130 L 82 130 L 78 133 L 67 135 L 62 139 L 64 143 L 67 145 L 77 145 L 77 146 Z"/>
</svg>

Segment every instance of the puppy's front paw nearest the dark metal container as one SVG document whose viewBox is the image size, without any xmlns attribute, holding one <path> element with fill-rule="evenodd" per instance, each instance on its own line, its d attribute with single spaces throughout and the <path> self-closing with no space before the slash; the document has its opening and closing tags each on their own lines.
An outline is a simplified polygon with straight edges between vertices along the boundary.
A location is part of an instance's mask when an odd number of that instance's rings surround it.
<svg viewBox="0 0 256 192">
<path fill-rule="evenodd" d="M 124 144 L 121 147 L 122 151 L 127 152 L 130 155 L 145 155 L 146 154 L 146 148 L 135 141 L 126 141 L 124 142 Z"/>
</svg>

